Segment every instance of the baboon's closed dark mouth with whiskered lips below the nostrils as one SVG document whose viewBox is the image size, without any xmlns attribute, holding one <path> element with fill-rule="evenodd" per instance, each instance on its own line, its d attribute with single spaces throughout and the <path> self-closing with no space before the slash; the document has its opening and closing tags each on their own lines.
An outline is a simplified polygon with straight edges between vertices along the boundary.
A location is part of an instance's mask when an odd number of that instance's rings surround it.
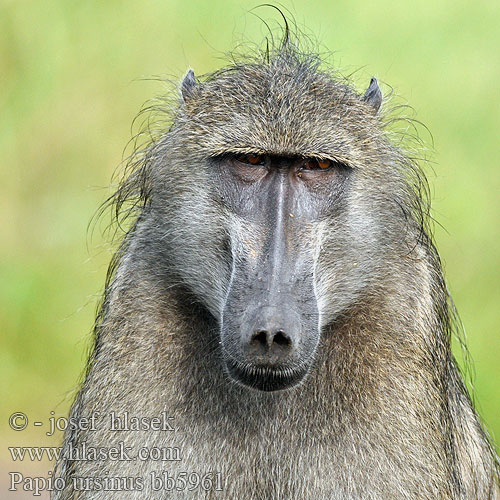
<svg viewBox="0 0 500 500">
<path fill-rule="evenodd" d="M 226 357 L 224 364 L 228 375 L 236 382 L 257 389 L 273 392 L 289 389 L 298 384 L 307 374 L 307 366 L 278 367 L 241 363 L 233 357 Z"/>
</svg>

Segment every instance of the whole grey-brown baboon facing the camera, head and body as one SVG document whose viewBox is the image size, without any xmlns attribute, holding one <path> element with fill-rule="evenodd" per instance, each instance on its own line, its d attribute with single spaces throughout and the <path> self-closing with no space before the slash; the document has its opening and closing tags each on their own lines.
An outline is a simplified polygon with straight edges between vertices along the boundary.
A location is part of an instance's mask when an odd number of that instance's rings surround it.
<svg viewBox="0 0 500 500">
<path fill-rule="evenodd" d="M 111 200 L 133 222 L 54 499 L 498 498 L 382 101 L 288 32 L 188 71 Z"/>
</svg>

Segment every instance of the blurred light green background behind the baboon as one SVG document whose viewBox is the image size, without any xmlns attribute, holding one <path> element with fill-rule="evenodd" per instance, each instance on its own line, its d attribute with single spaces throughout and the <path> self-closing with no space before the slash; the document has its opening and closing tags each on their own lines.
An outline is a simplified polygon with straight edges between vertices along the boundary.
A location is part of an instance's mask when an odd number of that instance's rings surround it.
<svg viewBox="0 0 500 500">
<path fill-rule="evenodd" d="M 188 67 L 202 74 L 242 40 L 260 43 L 265 29 L 248 13 L 257 4 L 0 0 L 2 454 L 4 443 L 60 439 L 15 433 L 6 421 L 13 411 L 46 419 L 68 409 L 111 252 L 87 225 L 110 192 L 134 116 L 165 90 L 145 78 L 178 79 Z M 432 131 L 429 179 L 445 228 L 436 227 L 437 244 L 467 331 L 478 408 L 500 440 L 500 2 L 281 5 L 345 73 L 361 68 L 360 91 L 376 75 Z"/>
</svg>

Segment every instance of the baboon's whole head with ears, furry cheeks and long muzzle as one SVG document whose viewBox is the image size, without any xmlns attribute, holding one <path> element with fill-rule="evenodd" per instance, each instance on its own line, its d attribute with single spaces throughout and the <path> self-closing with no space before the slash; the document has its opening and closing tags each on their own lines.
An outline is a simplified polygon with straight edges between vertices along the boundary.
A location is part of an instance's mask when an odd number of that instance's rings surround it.
<svg viewBox="0 0 500 500">
<path fill-rule="evenodd" d="M 184 78 L 153 148 L 150 219 L 217 321 L 231 379 L 301 381 L 324 327 L 385 272 L 407 200 L 381 100 L 375 79 L 358 94 L 290 45 Z"/>
</svg>

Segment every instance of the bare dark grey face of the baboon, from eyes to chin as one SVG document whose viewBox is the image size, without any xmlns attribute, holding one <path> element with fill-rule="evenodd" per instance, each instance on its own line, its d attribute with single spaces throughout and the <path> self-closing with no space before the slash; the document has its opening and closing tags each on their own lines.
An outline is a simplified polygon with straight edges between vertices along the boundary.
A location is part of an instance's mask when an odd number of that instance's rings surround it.
<svg viewBox="0 0 500 500">
<path fill-rule="evenodd" d="M 305 375 L 319 342 L 321 224 L 340 209 L 349 168 L 275 154 L 224 155 L 213 168 L 231 214 L 226 369 L 251 387 L 284 389 Z"/>
</svg>

